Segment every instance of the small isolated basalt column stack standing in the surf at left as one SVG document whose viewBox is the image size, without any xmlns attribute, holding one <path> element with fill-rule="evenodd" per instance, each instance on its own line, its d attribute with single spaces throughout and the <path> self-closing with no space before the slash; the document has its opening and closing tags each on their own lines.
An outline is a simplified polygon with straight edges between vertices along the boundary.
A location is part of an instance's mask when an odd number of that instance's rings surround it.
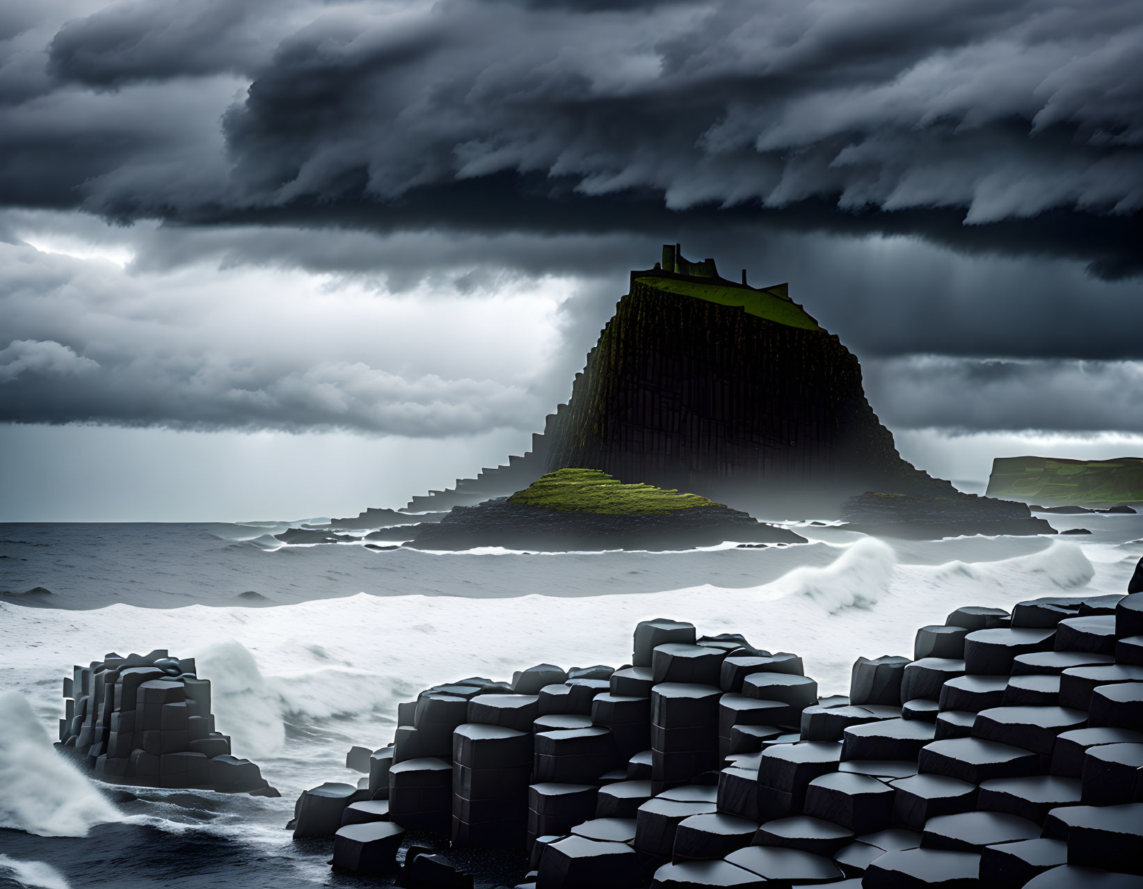
<svg viewBox="0 0 1143 889">
<path fill-rule="evenodd" d="M 215 730 L 210 682 L 194 658 L 112 652 L 77 665 L 63 694 L 59 746 L 102 780 L 279 795 Z"/>
</svg>

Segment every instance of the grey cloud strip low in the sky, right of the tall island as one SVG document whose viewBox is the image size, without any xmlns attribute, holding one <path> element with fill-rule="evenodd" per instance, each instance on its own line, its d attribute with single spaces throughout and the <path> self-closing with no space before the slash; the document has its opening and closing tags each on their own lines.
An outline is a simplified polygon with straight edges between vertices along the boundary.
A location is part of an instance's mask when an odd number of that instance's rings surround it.
<svg viewBox="0 0 1143 889">
<path fill-rule="evenodd" d="M 1141 362 L 918 355 L 864 369 L 870 402 L 898 430 L 1143 432 Z"/>
</svg>

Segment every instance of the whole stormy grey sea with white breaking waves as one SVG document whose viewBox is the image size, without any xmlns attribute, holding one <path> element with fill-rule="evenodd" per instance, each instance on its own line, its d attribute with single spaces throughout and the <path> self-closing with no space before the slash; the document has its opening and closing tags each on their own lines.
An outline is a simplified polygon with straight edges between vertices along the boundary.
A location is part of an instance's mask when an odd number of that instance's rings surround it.
<svg viewBox="0 0 1143 889">
<path fill-rule="evenodd" d="M 856 657 L 911 655 L 959 606 L 1125 590 L 1143 514 L 1046 518 L 1090 534 L 890 540 L 798 521 L 805 544 L 555 554 L 274 537 L 299 522 L 0 526 L 0 886 L 376 886 L 286 823 L 302 790 L 357 780 L 346 751 L 387 744 L 417 690 L 618 666 L 634 624 L 662 616 L 798 652 L 822 695 L 845 694 Z M 219 730 L 280 798 L 103 785 L 56 753 L 72 664 L 155 648 L 197 658 Z M 461 862 L 485 887 L 526 870 Z"/>
</svg>

